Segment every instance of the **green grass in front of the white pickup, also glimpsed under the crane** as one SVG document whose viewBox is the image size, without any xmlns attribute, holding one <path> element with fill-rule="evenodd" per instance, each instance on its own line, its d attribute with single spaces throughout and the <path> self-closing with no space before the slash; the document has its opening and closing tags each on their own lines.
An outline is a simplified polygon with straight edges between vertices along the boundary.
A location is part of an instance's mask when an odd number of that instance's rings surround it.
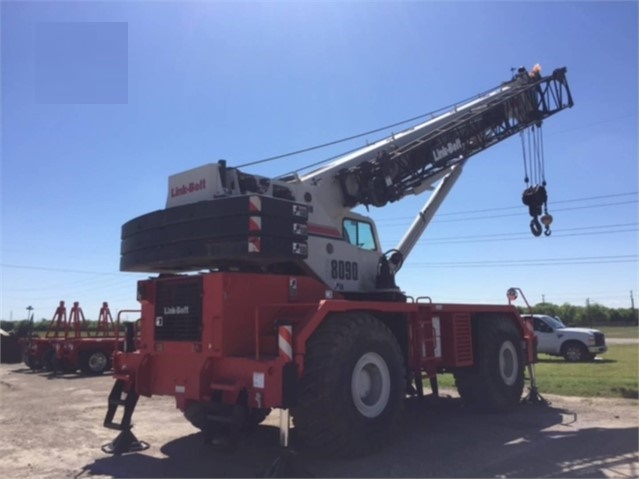
<svg viewBox="0 0 639 479">
<path fill-rule="evenodd" d="M 535 368 L 541 394 L 639 399 L 639 346 L 611 345 L 590 363 L 569 363 L 563 358 L 539 355 Z M 454 388 L 452 374 L 439 376 L 439 385 Z M 429 384 L 425 381 L 426 390 Z"/>
</svg>

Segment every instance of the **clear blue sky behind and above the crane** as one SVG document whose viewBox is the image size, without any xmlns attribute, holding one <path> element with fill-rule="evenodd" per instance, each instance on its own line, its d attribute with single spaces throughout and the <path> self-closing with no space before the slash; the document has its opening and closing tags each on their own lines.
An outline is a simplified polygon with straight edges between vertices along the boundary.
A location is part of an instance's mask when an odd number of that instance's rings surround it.
<svg viewBox="0 0 639 479">
<path fill-rule="evenodd" d="M 521 143 L 473 157 L 398 275 L 411 295 L 628 307 L 637 256 L 637 2 L 7 2 L 1 319 L 135 308 L 120 227 L 168 176 L 242 165 L 469 98 L 512 67 L 566 66 L 544 124 L 553 235 L 521 204 Z M 392 131 L 388 131 L 392 133 Z M 382 134 L 246 168 L 302 168 Z M 385 249 L 425 197 L 372 208 Z"/>
</svg>

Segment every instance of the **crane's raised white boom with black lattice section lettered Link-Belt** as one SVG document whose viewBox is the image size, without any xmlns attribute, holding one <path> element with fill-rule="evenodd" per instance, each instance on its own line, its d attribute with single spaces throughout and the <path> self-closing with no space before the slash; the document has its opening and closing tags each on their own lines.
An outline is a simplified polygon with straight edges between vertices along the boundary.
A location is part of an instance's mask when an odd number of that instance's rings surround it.
<svg viewBox="0 0 639 479">
<path fill-rule="evenodd" d="M 566 68 L 520 68 L 499 88 L 302 178 L 336 176 L 343 206 L 384 206 L 431 187 L 467 158 L 573 105 Z"/>
</svg>

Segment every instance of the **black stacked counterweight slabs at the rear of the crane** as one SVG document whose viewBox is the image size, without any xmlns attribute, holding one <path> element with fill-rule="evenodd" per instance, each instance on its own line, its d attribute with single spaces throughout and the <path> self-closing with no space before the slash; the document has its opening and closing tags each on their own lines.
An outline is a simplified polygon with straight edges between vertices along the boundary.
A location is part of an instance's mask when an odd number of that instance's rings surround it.
<svg viewBox="0 0 639 479">
<path fill-rule="evenodd" d="M 308 207 L 261 195 L 167 208 L 122 226 L 120 270 L 269 268 L 308 255 Z"/>
</svg>

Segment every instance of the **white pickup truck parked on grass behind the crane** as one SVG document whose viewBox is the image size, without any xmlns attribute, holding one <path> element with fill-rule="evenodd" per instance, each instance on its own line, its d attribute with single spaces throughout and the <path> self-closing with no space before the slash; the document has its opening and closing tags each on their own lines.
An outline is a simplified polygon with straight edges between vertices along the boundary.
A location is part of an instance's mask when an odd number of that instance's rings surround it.
<svg viewBox="0 0 639 479">
<path fill-rule="evenodd" d="M 532 318 L 537 334 L 537 352 L 563 356 L 566 361 L 592 361 L 605 353 L 606 337 L 597 329 L 569 328 L 559 318 L 545 314 L 522 315 Z"/>
</svg>

